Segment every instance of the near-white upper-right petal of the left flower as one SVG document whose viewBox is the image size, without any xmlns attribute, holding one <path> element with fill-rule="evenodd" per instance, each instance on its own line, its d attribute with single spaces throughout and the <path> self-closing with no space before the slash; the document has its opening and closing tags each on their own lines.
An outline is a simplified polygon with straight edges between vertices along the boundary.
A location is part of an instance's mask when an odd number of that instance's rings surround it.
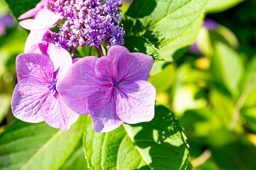
<svg viewBox="0 0 256 170">
<path fill-rule="evenodd" d="M 65 49 L 49 44 L 47 53 L 54 64 L 54 71 L 58 70 L 57 79 L 65 75 L 72 65 L 72 57 Z"/>
</svg>

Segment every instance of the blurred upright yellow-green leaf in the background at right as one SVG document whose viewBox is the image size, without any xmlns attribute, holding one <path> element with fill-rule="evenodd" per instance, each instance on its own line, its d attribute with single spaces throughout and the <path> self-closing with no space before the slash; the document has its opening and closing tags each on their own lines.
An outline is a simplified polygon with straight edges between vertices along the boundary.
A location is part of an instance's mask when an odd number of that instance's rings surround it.
<svg viewBox="0 0 256 170">
<path fill-rule="evenodd" d="M 243 61 L 234 49 L 222 42 L 215 43 L 216 59 L 220 76 L 231 94 L 237 97 L 238 84 L 244 72 Z"/>
</svg>

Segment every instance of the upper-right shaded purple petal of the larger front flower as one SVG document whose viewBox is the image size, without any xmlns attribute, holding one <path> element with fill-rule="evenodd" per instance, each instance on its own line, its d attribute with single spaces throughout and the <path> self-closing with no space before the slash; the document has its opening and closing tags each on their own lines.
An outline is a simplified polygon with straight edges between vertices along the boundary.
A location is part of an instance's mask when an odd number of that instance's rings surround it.
<svg viewBox="0 0 256 170">
<path fill-rule="evenodd" d="M 118 62 L 117 82 L 121 85 L 148 80 L 148 74 L 154 64 L 153 57 L 143 53 L 129 53 Z"/>
</svg>

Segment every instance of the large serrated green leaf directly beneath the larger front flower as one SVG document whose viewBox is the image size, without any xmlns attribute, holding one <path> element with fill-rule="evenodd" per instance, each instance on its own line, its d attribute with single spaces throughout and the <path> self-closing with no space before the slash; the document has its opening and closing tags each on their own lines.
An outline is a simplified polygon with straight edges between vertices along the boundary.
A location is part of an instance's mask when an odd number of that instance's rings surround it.
<svg viewBox="0 0 256 170">
<path fill-rule="evenodd" d="M 88 121 L 85 156 L 91 170 L 192 170 L 188 146 L 178 120 L 164 106 L 155 107 L 150 122 L 98 133 Z"/>
</svg>

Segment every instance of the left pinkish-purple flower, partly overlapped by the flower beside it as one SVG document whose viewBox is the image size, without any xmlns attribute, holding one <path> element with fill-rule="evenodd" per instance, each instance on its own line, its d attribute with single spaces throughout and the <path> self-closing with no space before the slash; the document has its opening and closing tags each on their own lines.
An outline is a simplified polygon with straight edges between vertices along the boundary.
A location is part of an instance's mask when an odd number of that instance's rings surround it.
<svg viewBox="0 0 256 170">
<path fill-rule="evenodd" d="M 72 65 L 70 54 L 50 44 L 47 54 L 26 53 L 16 59 L 18 84 L 11 99 L 13 115 L 26 122 L 45 121 L 49 126 L 68 130 L 79 115 L 56 91 L 58 79 Z"/>
</svg>

